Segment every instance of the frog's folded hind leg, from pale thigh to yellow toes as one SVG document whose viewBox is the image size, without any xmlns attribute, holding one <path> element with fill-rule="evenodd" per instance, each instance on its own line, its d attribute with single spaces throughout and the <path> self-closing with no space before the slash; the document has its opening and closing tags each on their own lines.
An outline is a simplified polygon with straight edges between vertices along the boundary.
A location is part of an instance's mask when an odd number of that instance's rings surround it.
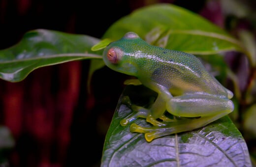
<svg viewBox="0 0 256 167">
<path fill-rule="evenodd" d="M 166 125 L 162 127 L 145 128 L 131 124 L 130 131 L 144 133 L 145 139 L 151 141 L 162 136 L 191 131 L 205 126 L 233 111 L 234 106 L 232 101 L 228 99 L 192 94 L 171 98 L 166 103 L 166 109 L 173 115 L 192 118 L 165 123 Z"/>
</svg>

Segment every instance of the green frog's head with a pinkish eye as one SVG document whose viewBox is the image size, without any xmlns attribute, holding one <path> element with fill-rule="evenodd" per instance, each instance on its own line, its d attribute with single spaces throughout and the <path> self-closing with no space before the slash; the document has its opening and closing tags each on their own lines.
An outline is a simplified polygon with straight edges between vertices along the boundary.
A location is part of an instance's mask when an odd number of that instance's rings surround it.
<svg viewBox="0 0 256 167">
<path fill-rule="evenodd" d="M 111 42 L 103 52 L 105 64 L 112 70 L 136 76 L 137 65 L 134 57 L 136 41 L 142 40 L 136 33 L 128 32 L 123 38 Z"/>
</svg>

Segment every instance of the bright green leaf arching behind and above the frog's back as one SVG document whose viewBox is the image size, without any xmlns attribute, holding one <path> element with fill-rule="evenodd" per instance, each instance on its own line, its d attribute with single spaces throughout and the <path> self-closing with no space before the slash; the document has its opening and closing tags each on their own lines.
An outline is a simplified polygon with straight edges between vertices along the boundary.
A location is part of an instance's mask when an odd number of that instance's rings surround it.
<svg viewBox="0 0 256 167">
<path fill-rule="evenodd" d="M 222 28 L 172 4 L 161 3 L 137 9 L 113 24 L 103 38 L 117 40 L 128 31 L 149 39 L 148 43 L 195 55 L 245 52 L 242 44 Z"/>
</svg>

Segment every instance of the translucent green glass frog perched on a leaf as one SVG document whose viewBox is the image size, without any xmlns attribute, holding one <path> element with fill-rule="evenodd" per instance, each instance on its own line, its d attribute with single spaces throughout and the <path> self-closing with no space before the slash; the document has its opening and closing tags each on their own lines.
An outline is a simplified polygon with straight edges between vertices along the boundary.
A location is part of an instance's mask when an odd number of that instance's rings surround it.
<svg viewBox="0 0 256 167">
<path fill-rule="evenodd" d="M 120 124 L 141 117 L 152 124 L 130 125 L 130 132 L 145 134 L 147 141 L 205 126 L 234 109 L 233 93 L 210 75 L 200 60 L 180 51 L 152 46 L 136 33 L 128 32 L 110 43 L 103 52 L 105 64 L 136 77 L 126 84 L 143 84 L 158 93 L 149 108 L 130 105 L 135 111 Z M 166 116 L 169 112 L 173 118 Z"/>
</svg>

